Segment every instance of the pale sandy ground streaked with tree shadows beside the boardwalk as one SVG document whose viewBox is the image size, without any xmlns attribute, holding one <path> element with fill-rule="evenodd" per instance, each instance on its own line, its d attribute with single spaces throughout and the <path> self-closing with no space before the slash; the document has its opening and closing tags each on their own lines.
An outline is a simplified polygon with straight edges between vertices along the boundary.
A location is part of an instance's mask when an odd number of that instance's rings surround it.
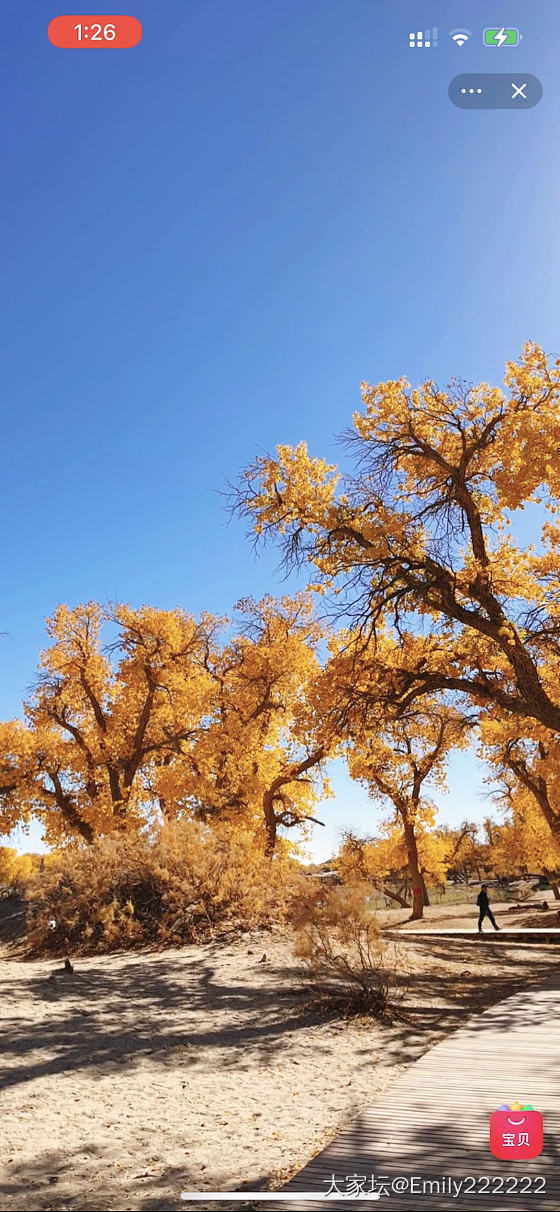
<svg viewBox="0 0 560 1212">
<path fill-rule="evenodd" d="M 56 979 L 5 951 L 1 1207 L 166 1212 L 185 1189 L 280 1185 L 468 1014 L 560 966 L 554 947 L 468 945 L 399 942 L 408 993 L 383 1023 L 310 1007 L 280 931 Z"/>
</svg>

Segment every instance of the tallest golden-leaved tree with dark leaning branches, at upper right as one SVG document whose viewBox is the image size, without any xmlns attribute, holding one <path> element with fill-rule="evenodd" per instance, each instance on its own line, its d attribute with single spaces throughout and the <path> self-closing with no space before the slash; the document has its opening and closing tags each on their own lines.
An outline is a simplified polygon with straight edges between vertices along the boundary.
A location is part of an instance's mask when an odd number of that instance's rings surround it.
<svg viewBox="0 0 560 1212">
<path fill-rule="evenodd" d="M 394 714 L 450 691 L 558 736 L 560 360 L 527 344 L 504 390 L 401 378 L 364 383 L 362 401 L 352 475 L 279 446 L 246 470 L 238 510 L 341 595 L 358 658 L 384 629 Z M 536 554 L 509 528 L 541 499 L 552 520 Z"/>
</svg>

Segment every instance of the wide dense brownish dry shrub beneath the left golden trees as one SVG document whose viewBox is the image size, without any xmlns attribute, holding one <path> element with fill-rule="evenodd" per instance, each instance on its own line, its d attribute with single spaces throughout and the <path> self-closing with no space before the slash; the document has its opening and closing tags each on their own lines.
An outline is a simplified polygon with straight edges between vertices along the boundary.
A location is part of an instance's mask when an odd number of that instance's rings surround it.
<svg viewBox="0 0 560 1212">
<path fill-rule="evenodd" d="M 292 879 L 292 864 L 264 858 L 250 833 L 193 821 L 68 846 L 29 890 L 29 948 L 92 954 L 270 925 L 284 917 Z"/>
</svg>

